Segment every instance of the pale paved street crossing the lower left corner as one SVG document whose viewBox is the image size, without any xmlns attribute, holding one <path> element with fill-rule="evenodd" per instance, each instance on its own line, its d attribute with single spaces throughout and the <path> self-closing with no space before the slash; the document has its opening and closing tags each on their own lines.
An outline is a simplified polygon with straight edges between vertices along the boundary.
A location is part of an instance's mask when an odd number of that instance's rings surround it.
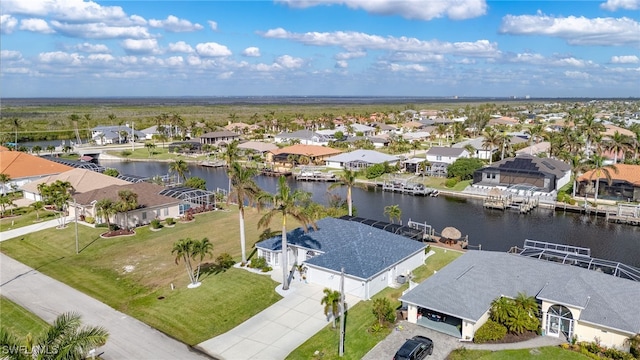
<svg viewBox="0 0 640 360">
<path fill-rule="evenodd" d="M 206 359 L 187 345 L 55 279 L 0 254 L 0 295 L 51 323 L 64 312 L 109 331 L 104 359 Z"/>
</svg>

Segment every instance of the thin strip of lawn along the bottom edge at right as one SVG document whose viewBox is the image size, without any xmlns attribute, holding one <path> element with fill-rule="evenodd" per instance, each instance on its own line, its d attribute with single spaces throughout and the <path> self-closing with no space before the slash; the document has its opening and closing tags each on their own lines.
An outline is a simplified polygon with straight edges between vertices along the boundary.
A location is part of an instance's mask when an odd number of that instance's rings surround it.
<svg viewBox="0 0 640 360">
<path fill-rule="evenodd" d="M 465 348 L 457 349 L 451 352 L 447 360 L 584 360 L 589 359 L 588 356 L 580 353 L 564 350 L 556 346 L 546 346 L 535 349 L 520 350 L 469 350 Z"/>
</svg>

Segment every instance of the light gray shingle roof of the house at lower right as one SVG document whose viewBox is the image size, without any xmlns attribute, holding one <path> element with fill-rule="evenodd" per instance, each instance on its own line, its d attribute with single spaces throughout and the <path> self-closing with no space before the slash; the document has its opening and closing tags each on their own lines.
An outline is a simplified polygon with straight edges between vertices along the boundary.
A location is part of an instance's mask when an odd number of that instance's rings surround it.
<svg viewBox="0 0 640 360">
<path fill-rule="evenodd" d="M 640 332 L 640 283 L 577 266 L 491 251 L 469 251 L 401 300 L 477 321 L 499 296 L 518 292 L 584 308 L 580 319 Z"/>
</svg>

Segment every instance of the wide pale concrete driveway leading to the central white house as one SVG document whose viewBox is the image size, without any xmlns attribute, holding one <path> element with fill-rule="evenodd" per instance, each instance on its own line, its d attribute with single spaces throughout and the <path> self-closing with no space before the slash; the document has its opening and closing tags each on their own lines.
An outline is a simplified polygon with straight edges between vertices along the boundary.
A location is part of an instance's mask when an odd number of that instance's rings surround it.
<svg viewBox="0 0 640 360">
<path fill-rule="evenodd" d="M 329 324 L 324 306 L 320 304 L 323 289 L 294 280 L 283 299 L 231 331 L 196 347 L 219 359 L 284 359 Z M 278 292 L 283 294 L 281 290 Z M 358 299 L 347 296 L 349 306 L 357 302 Z"/>
</svg>

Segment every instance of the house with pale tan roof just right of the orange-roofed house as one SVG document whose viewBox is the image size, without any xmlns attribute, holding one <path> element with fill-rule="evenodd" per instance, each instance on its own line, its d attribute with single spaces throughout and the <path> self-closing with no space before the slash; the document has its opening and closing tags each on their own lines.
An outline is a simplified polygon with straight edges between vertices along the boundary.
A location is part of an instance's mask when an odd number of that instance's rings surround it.
<svg viewBox="0 0 640 360">
<path fill-rule="evenodd" d="M 23 191 L 25 199 L 40 201 L 42 200 L 42 197 L 40 196 L 38 185 L 40 184 L 49 185 L 58 180 L 69 182 L 69 184 L 73 186 L 73 189 L 76 194 L 100 189 L 100 188 L 111 186 L 111 185 L 130 184 L 128 181 L 118 179 L 113 176 L 104 175 L 92 170 L 75 168 L 60 174 L 49 175 L 41 179 L 38 179 L 36 181 L 32 181 L 20 187 L 20 190 Z"/>
</svg>

